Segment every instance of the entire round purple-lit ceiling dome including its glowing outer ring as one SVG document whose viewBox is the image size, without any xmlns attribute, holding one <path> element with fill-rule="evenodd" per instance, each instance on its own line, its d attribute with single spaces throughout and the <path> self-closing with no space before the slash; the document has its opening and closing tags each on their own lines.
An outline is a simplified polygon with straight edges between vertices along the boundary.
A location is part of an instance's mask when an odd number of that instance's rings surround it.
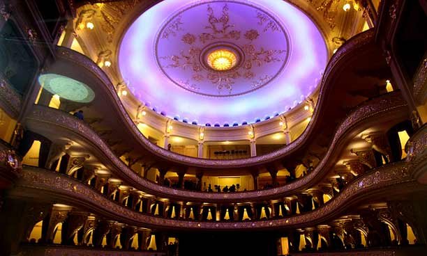
<svg viewBox="0 0 427 256">
<path fill-rule="evenodd" d="M 133 22 L 119 50 L 141 102 L 199 125 L 282 113 L 314 90 L 326 63 L 317 26 L 271 0 L 165 0 Z"/>
</svg>

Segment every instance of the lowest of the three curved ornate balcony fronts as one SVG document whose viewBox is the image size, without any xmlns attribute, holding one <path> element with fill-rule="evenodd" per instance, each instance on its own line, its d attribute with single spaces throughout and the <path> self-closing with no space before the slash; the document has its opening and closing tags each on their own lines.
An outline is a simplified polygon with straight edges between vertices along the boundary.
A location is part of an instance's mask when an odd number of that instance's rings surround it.
<svg viewBox="0 0 427 256">
<path fill-rule="evenodd" d="M 76 179 L 31 167 L 24 168 L 22 179 L 9 194 L 11 197 L 43 198 L 43 200 L 73 205 L 128 225 L 181 230 L 268 230 L 322 223 L 343 214 L 349 207 L 361 201 L 381 198 L 384 193 L 389 197 L 392 196 L 391 188 L 396 194 L 405 193 L 408 190 L 426 191 L 427 186 L 420 186 L 412 179 L 411 171 L 405 161 L 390 163 L 359 175 L 322 207 L 304 214 L 261 221 L 188 221 L 142 214 L 119 205 Z"/>
</svg>

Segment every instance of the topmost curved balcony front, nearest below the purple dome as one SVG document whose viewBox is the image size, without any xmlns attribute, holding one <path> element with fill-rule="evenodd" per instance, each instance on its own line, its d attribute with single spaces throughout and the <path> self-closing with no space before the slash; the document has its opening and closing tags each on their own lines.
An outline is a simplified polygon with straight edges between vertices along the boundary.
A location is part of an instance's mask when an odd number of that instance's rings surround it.
<svg viewBox="0 0 427 256">
<path fill-rule="evenodd" d="M 107 74 L 105 74 L 105 72 L 103 72 L 103 70 L 101 70 L 100 67 L 96 65 L 96 63 L 93 63 L 93 61 L 91 61 L 86 56 L 83 56 L 82 54 L 78 54 L 73 50 L 66 49 L 63 47 L 58 47 L 57 53 L 59 59 L 62 58 L 66 61 L 71 61 L 76 65 L 80 65 L 86 68 L 87 70 L 95 74 L 95 76 L 98 77 L 100 81 L 102 81 L 102 83 L 105 85 L 105 90 L 107 90 L 107 94 L 110 96 L 111 102 L 113 103 L 112 105 L 115 109 L 117 109 L 117 111 L 119 111 L 119 113 L 121 113 L 121 122 L 123 122 L 123 127 L 126 127 L 126 129 L 130 131 L 130 134 L 132 134 L 134 138 L 138 142 L 140 142 L 142 147 L 144 147 L 145 150 L 151 152 L 151 154 L 154 154 L 156 157 L 160 157 L 161 159 L 163 159 L 163 161 L 170 161 L 172 163 L 186 166 L 196 166 L 200 168 L 213 169 L 239 168 L 260 165 L 262 163 L 267 163 L 269 161 L 279 159 L 281 157 L 291 154 L 292 152 L 295 152 L 296 150 L 301 148 L 302 145 L 304 145 L 307 141 L 310 141 L 310 136 L 315 136 L 315 125 L 320 125 L 318 116 L 320 116 L 320 113 L 322 113 L 322 106 L 327 103 L 327 100 L 325 100 L 325 95 L 328 95 L 332 89 L 331 86 L 327 85 L 331 83 L 331 80 L 334 77 L 334 75 L 331 75 L 334 74 L 333 70 L 335 70 L 336 67 L 339 67 L 340 65 L 345 63 L 345 60 L 347 58 L 350 58 L 350 56 L 355 56 L 359 54 L 360 50 L 363 47 L 365 47 L 366 45 L 370 45 L 373 42 L 373 35 L 374 31 L 369 30 L 354 36 L 353 38 L 348 40 L 343 46 L 341 46 L 336 52 L 336 54 L 332 56 L 331 60 L 327 65 L 322 82 L 320 84 L 320 96 L 317 100 L 317 107 L 315 108 L 315 111 L 313 113 L 313 118 L 309 123 L 308 127 L 306 127 L 303 134 L 301 134 L 301 136 L 299 136 L 297 140 L 269 154 L 264 154 L 258 157 L 251 157 L 248 159 L 231 160 L 198 159 L 194 157 L 186 157 L 181 154 L 177 154 L 169 150 L 165 150 L 162 147 L 158 147 L 157 145 L 154 145 L 141 134 L 139 129 L 137 129 L 132 118 L 129 117 L 125 107 L 117 96 L 117 92 L 114 89 L 114 86 L 112 85 L 110 79 L 107 77 Z"/>
</svg>

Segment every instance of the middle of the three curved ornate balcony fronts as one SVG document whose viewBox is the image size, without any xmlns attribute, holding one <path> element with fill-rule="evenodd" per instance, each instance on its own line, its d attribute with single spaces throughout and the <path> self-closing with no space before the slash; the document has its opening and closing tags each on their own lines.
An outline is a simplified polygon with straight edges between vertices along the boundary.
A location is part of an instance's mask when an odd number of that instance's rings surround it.
<svg viewBox="0 0 427 256">
<path fill-rule="evenodd" d="M 392 118 L 393 120 L 403 120 L 407 118 L 407 105 L 398 93 L 389 93 L 377 97 L 365 102 L 358 109 L 352 111 L 338 127 L 329 145 L 329 150 L 324 155 L 322 161 L 320 161 L 316 168 L 306 176 L 274 189 L 237 193 L 206 193 L 172 189 L 144 179 L 116 157 L 109 145 L 107 145 L 89 125 L 63 111 L 50 109 L 45 106 L 34 106 L 31 113 L 27 116 L 26 122 L 27 126 L 33 129 L 33 131 L 38 131 L 38 129 L 43 131 L 44 129 L 52 129 L 52 127 L 55 127 L 55 130 L 58 132 L 61 131 L 61 129 L 65 129 L 67 134 L 72 132 L 77 136 L 76 138 L 84 139 L 87 145 L 91 145 L 91 149 L 96 152 L 94 154 L 96 154 L 96 157 L 98 157 L 100 161 L 108 163 L 108 166 L 114 167 L 111 171 L 115 176 L 123 179 L 124 182 L 129 186 L 135 187 L 135 189 L 177 200 L 195 200 L 203 202 L 234 200 L 236 202 L 242 202 L 247 200 L 265 200 L 271 199 L 272 197 L 278 198 L 315 184 L 315 182 L 320 181 L 322 177 L 329 172 L 329 168 L 334 165 L 334 159 L 345 146 L 348 135 L 354 134 L 355 131 L 359 132 L 366 129 L 369 122 L 377 122 L 377 120 L 385 120 L 387 118 Z"/>
</svg>

